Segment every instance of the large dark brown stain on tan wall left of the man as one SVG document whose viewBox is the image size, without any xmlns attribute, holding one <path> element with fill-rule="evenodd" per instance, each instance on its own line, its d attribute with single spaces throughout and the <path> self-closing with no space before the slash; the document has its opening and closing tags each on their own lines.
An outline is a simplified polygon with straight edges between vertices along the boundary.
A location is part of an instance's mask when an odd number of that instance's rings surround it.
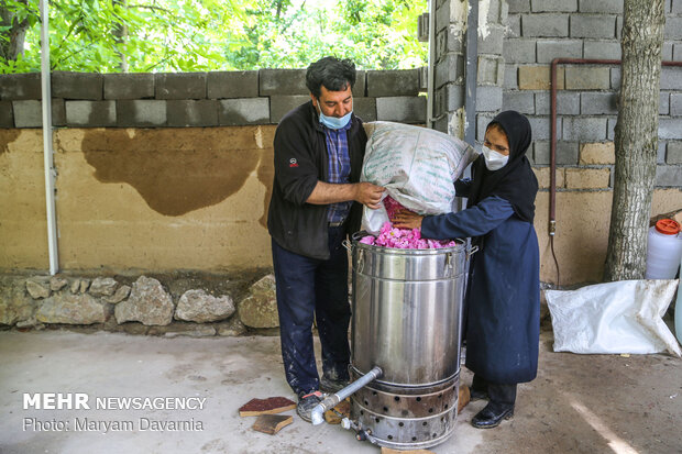
<svg viewBox="0 0 682 454">
<path fill-rule="evenodd" d="M 221 131 L 129 131 L 88 130 L 81 145 L 85 158 L 99 181 L 131 185 L 165 215 L 220 203 L 241 189 L 263 154 Z"/>
</svg>

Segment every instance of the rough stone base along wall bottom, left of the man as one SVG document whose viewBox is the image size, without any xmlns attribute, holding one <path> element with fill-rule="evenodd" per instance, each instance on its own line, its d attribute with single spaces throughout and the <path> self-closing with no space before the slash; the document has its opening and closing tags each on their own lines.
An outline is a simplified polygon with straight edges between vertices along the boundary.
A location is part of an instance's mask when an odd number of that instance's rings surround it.
<svg viewBox="0 0 682 454">
<path fill-rule="evenodd" d="M 162 283 L 163 281 L 163 283 Z M 278 326 L 272 274 L 0 276 L 0 328 L 212 336 Z"/>
</svg>

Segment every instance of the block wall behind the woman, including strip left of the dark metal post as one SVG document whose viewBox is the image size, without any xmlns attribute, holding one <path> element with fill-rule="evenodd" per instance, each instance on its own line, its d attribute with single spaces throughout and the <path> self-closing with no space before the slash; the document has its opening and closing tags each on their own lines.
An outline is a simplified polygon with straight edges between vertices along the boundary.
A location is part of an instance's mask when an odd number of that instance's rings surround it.
<svg viewBox="0 0 682 454">
<path fill-rule="evenodd" d="M 462 136 L 468 2 L 436 2 L 435 128 Z M 666 2 L 663 59 L 682 59 L 682 0 Z M 556 283 L 548 221 L 550 63 L 557 57 L 620 58 L 623 0 L 479 0 L 476 139 L 502 110 L 528 115 L 528 156 L 538 177 L 535 226 L 540 278 Z M 503 31 L 502 41 L 499 31 Z M 502 48 L 499 45 L 502 44 Z M 618 67 L 559 66 L 556 251 L 560 285 L 600 281 L 614 180 Z M 682 69 L 663 68 L 660 146 L 651 214 L 682 207 Z"/>
</svg>

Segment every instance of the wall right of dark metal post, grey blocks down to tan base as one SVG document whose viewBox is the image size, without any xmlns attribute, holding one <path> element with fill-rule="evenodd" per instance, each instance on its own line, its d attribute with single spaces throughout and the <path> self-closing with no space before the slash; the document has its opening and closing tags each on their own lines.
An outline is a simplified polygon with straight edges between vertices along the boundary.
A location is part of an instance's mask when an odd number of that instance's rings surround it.
<svg viewBox="0 0 682 454">
<path fill-rule="evenodd" d="M 557 57 L 620 59 L 623 0 L 507 0 L 507 4 L 502 108 L 528 115 L 534 129 L 528 156 L 540 185 L 535 221 L 540 276 L 554 283 L 557 269 L 548 240 L 550 63 Z M 681 60 L 682 0 L 664 4 L 662 58 Z M 620 70 L 608 65 L 560 65 L 557 87 L 554 246 L 560 284 L 598 281 L 608 243 Z M 681 91 L 682 68 L 663 67 L 651 215 L 682 207 Z"/>
</svg>

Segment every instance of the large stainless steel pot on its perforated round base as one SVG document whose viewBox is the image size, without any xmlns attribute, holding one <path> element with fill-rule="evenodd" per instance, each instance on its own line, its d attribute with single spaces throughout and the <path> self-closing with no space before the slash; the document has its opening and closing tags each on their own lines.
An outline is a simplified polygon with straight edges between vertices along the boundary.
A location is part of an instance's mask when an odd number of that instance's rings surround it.
<svg viewBox="0 0 682 454">
<path fill-rule="evenodd" d="M 452 434 L 468 251 L 395 250 L 352 242 L 351 373 L 383 376 L 351 397 L 375 443 L 429 447 Z"/>
</svg>

